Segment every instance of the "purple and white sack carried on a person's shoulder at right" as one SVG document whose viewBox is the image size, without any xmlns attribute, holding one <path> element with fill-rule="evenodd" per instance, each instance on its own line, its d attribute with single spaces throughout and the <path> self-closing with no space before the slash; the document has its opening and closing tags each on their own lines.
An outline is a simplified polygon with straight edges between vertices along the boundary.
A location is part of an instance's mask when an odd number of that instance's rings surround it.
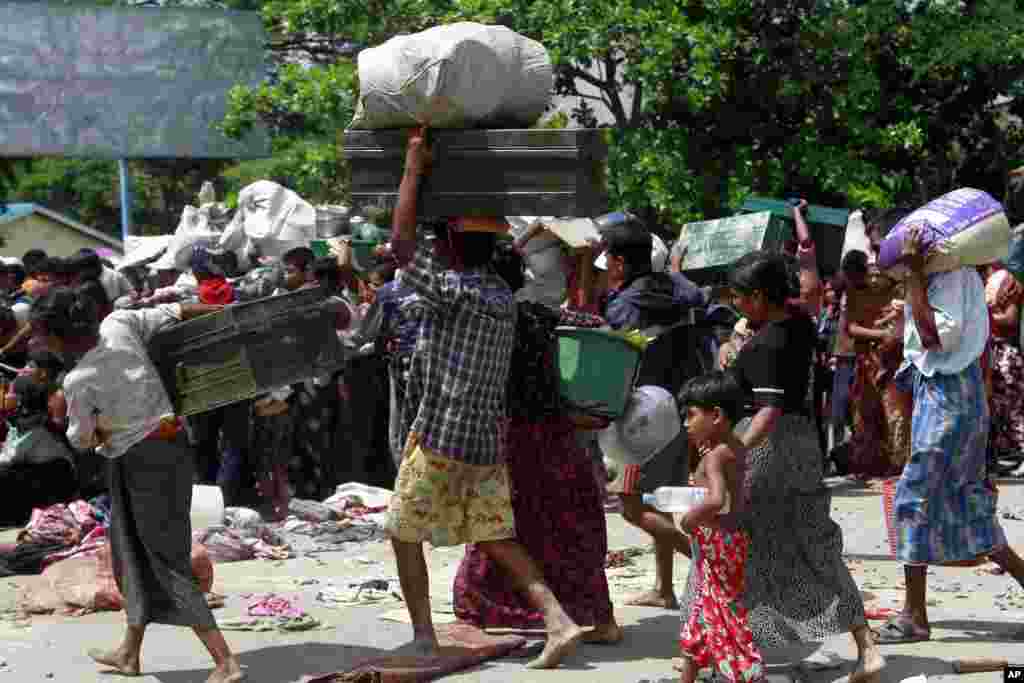
<svg viewBox="0 0 1024 683">
<path fill-rule="evenodd" d="M 1006 260 L 1010 221 L 991 195 L 962 187 L 932 200 L 898 222 L 883 241 L 879 267 L 893 268 L 903 255 L 903 241 L 921 226 L 926 272 L 948 272 Z"/>
</svg>

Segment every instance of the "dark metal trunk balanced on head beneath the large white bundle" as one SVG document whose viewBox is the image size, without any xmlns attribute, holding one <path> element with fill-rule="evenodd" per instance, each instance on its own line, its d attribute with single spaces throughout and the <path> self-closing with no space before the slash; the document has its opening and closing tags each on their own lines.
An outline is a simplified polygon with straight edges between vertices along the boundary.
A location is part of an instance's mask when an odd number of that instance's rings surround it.
<svg viewBox="0 0 1024 683">
<path fill-rule="evenodd" d="M 608 210 L 606 132 L 594 129 L 430 131 L 433 168 L 420 215 L 597 216 Z M 393 208 L 403 130 L 348 130 L 352 203 Z"/>
</svg>

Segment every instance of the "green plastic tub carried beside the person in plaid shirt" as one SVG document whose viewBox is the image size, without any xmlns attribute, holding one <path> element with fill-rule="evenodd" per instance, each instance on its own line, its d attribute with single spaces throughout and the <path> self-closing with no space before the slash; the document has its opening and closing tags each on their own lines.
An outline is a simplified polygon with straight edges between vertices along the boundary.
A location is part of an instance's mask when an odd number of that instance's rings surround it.
<svg viewBox="0 0 1024 683">
<path fill-rule="evenodd" d="M 618 418 L 626 413 L 640 351 L 605 330 L 558 328 L 556 334 L 562 397 L 592 415 Z"/>
</svg>

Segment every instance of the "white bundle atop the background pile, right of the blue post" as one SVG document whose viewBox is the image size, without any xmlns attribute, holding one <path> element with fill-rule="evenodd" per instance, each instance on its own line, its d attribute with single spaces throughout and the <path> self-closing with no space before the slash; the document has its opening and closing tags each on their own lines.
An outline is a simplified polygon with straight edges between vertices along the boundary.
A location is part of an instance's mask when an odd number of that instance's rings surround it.
<svg viewBox="0 0 1024 683">
<path fill-rule="evenodd" d="M 316 239 L 316 210 L 297 194 L 270 180 L 258 180 L 239 193 L 239 208 L 224 228 L 219 248 L 247 256 L 258 249 L 280 258 L 293 247 Z M 248 262 L 248 258 L 240 258 Z"/>
</svg>

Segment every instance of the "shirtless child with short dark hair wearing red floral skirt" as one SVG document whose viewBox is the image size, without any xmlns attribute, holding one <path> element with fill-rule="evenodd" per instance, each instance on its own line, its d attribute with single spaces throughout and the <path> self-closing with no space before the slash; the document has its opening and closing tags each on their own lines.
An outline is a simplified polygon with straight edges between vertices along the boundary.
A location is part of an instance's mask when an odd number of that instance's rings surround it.
<svg viewBox="0 0 1024 683">
<path fill-rule="evenodd" d="M 743 393 L 732 375 L 717 372 L 690 380 L 679 399 L 690 442 L 700 453 L 693 483 L 708 489 L 703 502 L 679 522 L 698 551 L 691 571 L 700 572 L 700 593 L 683 615 L 679 680 L 693 683 L 699 670 L 713 666 L 733 683 L 764 681 L 761 652 L 742 605 L 750 538 L 734 523 L 744 506 L 746 449 L 732 433 Z"/>
</svg>

